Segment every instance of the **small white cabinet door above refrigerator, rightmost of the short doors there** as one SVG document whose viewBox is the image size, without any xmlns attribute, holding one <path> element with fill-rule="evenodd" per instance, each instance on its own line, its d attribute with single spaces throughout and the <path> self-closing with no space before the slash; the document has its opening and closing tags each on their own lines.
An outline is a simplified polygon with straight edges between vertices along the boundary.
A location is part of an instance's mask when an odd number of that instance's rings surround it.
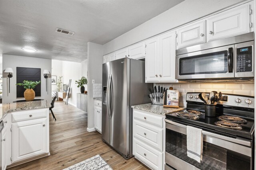
<svg viewBox="0 0 256 170">
<path fill-rule="evenodd" d="M 145 42 L 132 45 L 128 48 L 128 57 L 130 59 L 141 59 L 145 57 Z"/>
</svg>

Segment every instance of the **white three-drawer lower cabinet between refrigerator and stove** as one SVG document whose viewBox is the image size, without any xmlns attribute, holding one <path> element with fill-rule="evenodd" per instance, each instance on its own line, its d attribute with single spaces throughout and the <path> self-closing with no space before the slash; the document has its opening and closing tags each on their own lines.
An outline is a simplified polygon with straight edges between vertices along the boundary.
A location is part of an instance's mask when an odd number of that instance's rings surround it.
<svg viewBox="0 0 256 170">
<path fill-rule="evenodd" d="M 150 120 L 158 120 L 157 122 Z M 160 121 L 161 122 L 160 122 Z M 154 170 L 164 168 L 164 116 L 133 110 L 132 154 Z"/>
</svg>

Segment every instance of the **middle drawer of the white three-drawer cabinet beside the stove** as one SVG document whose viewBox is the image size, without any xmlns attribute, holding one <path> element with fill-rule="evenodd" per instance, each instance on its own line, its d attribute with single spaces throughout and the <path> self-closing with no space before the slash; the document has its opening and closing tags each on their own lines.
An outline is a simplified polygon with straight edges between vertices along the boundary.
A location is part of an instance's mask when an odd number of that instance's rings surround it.
<svg viewBox="0 0 256 170">
<path fill-rule="evenodd" d="M 163 129 L 134 120 L 133 134 L 151 147 L 163 151 Z"/>
</svg>

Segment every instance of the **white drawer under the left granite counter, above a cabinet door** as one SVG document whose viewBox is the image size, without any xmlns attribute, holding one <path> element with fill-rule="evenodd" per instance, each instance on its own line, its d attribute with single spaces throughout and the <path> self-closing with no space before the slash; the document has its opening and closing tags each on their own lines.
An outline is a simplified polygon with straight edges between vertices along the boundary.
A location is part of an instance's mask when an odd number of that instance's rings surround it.
<svg viewBox="0 0 256 170">
<path fill-rule="evenodd" d="M 12 113 L 12 122 L 47 117 L 47 113 L 49 113 L 48 108 L 46 108 L 46 109 L 33 109 L 33 110 L 15 111 L 15 112 Z"/>
</svg>

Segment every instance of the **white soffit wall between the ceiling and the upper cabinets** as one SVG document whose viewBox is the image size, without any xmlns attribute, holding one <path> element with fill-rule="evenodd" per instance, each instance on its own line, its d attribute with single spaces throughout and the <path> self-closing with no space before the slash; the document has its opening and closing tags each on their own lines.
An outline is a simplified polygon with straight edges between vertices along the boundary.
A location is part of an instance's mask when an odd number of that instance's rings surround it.
<svg viewBox="0 0 256 170">
<path fill-rule="evenodd" d="M 106 55 L 244 0 L 185 0 L 103 45 Z"/>
</svg>

